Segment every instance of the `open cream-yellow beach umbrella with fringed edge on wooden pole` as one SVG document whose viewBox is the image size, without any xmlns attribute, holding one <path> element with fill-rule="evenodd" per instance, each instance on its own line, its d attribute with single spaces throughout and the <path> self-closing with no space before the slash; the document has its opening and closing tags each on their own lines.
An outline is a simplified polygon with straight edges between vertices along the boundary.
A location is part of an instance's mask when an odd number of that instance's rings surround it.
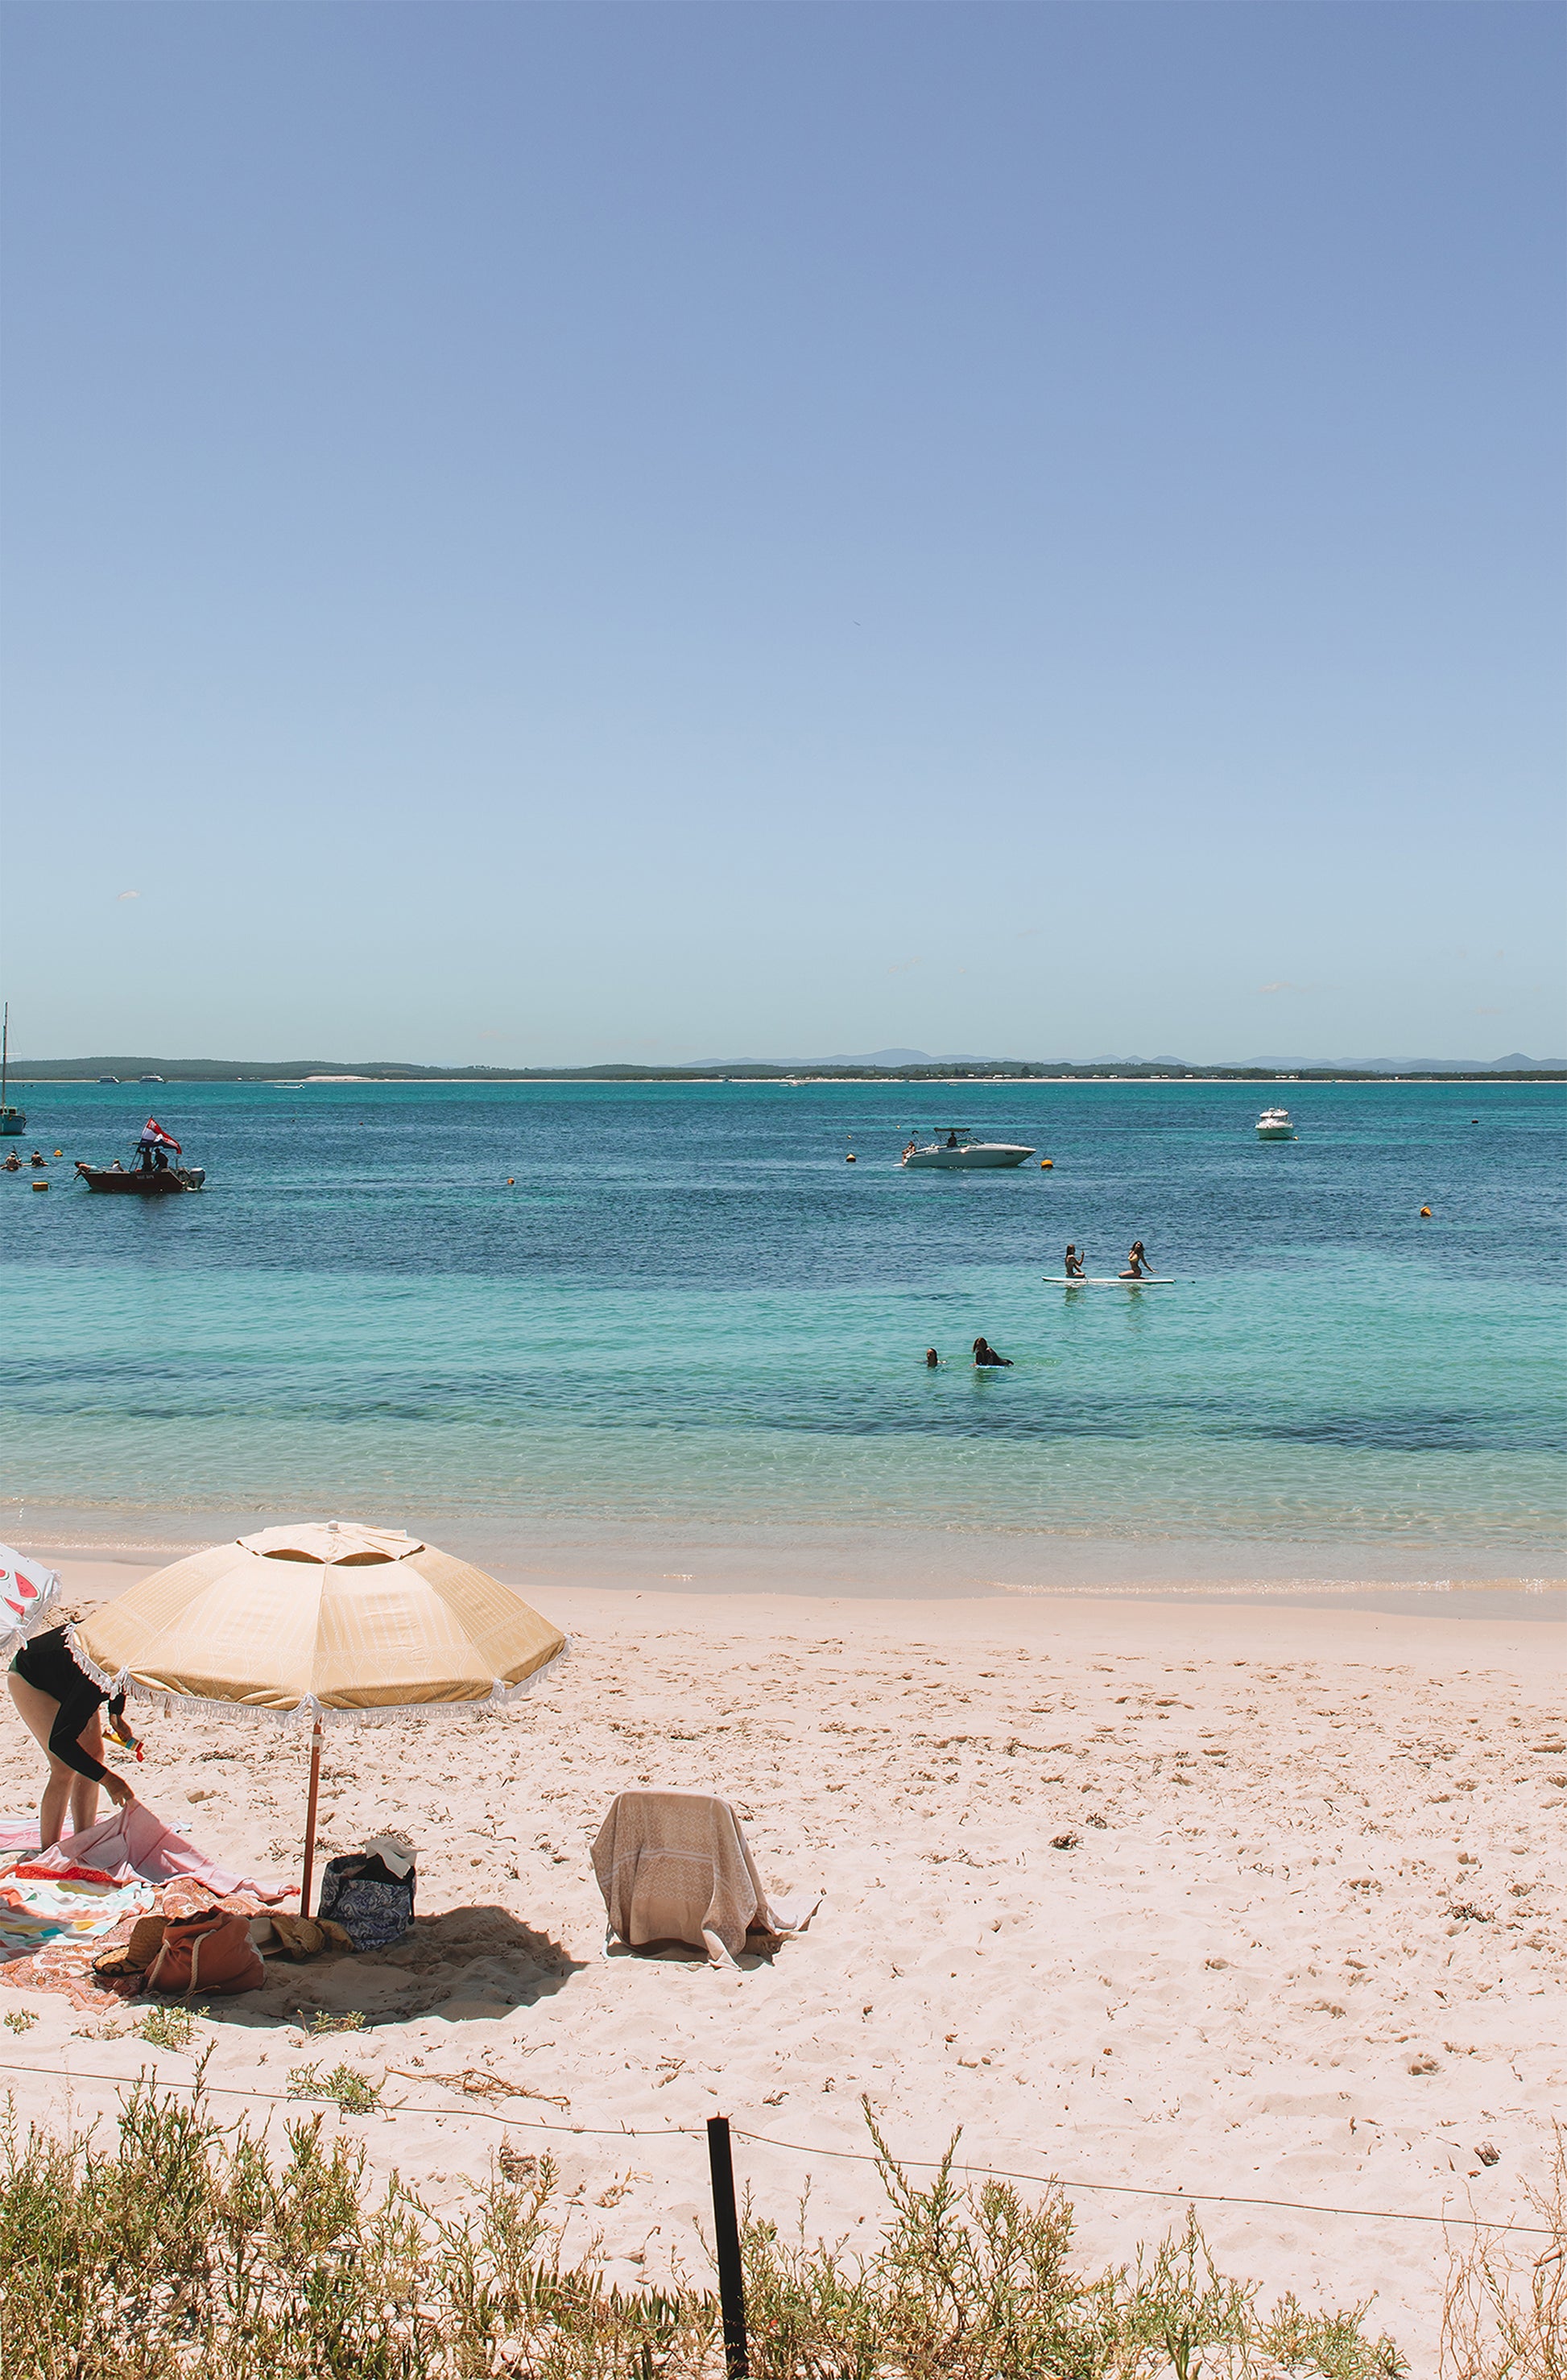
<svg viewBox="0 0 1567 2380">
<path fill-rule="evenodd" d="M 305 1521 L 171 1561 L 81 1621 L 71 1647 L 110 1695 L 310 1730 L 310 1916 L 321 1730 L 514 1702 L 569 1640 L 457 1554 Z"/>
</svg>

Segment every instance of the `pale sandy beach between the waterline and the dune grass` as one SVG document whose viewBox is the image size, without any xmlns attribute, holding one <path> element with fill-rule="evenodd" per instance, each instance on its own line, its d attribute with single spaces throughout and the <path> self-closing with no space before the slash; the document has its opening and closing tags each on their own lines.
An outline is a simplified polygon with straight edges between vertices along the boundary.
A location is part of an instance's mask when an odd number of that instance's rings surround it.
<svg viewBox="0 0 1567 2380">
<path fill-rule="evenodd" d="M 69 1564 L 67 1592 L 133 1576 Z M 329 1847 L 386 1823 L 419 1842 L 414 1942 L 221 2009 L 200 2028 L 210 2082 L 286 2092 L 338 2056 L 386 2075 L 402 2106 L 329 2123 L 438 2204 L 502 2137 L 548 2147 L 576 2192 L 567 2247 L 603 2232 L 622 2280 L 672 2256 L 705 2271 L 705 2147 L 683 2128 L 714 2109 L 798 2144 L 741 2144 L 760 2209 L 791 2223 L 810 2180 L 810 2225 L 864 2235 L 862 2092 L 910 2156 L 962 2125 L 979 2166 L 1076 2182 L 1091 2256 L 1179 2223 L 1157 2190 L 1529 2218 L 1567 2097 L 1567 1628 L 517 1583 L 576 1640 L 536 1697 L 329 1745 Z M 26 1809 L 40 1761 L 14 1714 L 0 1766 L 2 1806 Z M 300 1747 L 217 1721 L 155 1721 L 138 1773 L 205 1849 L 279 1878 L 302 1778 Z M 643 1780 L 729 1792 L 769 1883 L 824 1885 L 810 1933 L 741 1975 L 603 1959 L 586 1847 Z M 40 2021 L 0 2056 L 24 2116 L 193 2071 L 81 2030 L 114 2018 L 21 1999 Z M 374 2030 L 307 2042 L 312 2009 Z M 438 2080 L 464 2071 L 529 2097 Z M 1376 2292 L 1376 2320 L 1429 2356 L 1438 2228 L 1203 2221 L 1224 2268 L 1331 2304 Z"/>
</svg>

